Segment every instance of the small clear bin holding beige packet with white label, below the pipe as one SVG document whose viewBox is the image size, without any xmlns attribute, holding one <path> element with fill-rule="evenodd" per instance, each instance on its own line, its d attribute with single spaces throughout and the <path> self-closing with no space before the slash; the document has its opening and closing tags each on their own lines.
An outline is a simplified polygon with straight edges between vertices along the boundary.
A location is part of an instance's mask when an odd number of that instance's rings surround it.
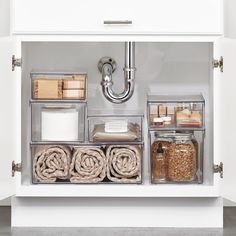
<svg viewBox="0 0 236 236">
<path fill-rule="evenodd" d="M 142 142 L 142 115 L 106 115 L 88 117 L 89 142 Z"/>
</svg>

